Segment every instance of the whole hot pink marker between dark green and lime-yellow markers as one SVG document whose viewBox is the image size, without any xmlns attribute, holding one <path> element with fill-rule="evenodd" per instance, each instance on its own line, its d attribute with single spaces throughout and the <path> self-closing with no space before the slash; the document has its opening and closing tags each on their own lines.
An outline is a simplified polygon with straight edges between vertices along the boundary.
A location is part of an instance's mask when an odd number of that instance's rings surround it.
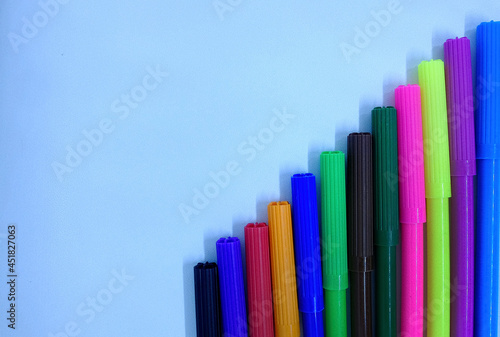
<svg viewBox="0 0 500 337">
<path fill-rule="evenodd" d="M 424 147 L 420 87 L 395 90 L 401 222 L 401 337 L 424 331 Z"/>
</svg>

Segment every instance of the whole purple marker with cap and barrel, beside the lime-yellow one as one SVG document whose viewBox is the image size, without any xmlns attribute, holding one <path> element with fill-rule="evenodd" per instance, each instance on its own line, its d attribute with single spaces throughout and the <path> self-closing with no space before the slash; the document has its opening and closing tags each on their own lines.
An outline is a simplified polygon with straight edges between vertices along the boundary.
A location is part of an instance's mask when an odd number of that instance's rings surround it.
<svg viewBox="0 0 500 337">
<path fill-rule="evenodd" d="M 450 141 L 450 262 L 451 282 L 457 287 L 451 303 L 451 335 L 474 332 L 474 101 L 470 41 L 444 43 L 446 100 Z"/>
</svg>

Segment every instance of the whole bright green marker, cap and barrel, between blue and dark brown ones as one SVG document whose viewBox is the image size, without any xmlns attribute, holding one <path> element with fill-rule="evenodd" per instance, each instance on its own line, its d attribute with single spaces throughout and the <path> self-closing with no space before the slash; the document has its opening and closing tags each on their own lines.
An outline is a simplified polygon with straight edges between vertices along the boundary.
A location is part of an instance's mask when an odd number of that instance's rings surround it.
<svg viewBox="0 0 500 337">
<path fill-rule="evenodd" d="M 345 156 L 323 152 L 321 160 L 321 230 L 325 336 L 347 336 L 347 223 Z"/>
</svg>

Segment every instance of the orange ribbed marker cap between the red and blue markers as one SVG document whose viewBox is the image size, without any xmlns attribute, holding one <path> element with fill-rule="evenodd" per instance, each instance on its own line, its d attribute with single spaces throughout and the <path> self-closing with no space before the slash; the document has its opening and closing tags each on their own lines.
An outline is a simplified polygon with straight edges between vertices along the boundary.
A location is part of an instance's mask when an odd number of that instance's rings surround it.
<svg viewBox="0 0 500 337">
<path fill-rule="evenodd" d="M 292 213 L 287 201 L 267 206 L 276 337 L 300 336 Z"/>
</svg>

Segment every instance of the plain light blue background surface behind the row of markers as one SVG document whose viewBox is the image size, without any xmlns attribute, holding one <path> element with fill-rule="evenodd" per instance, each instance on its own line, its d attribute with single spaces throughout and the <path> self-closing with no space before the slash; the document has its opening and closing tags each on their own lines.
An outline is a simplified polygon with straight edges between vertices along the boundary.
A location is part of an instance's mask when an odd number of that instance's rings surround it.
<svg viewBox="0 0 500 337">
<path fill-rule="evenodd" d="M 402 0 L 348 63 L 342 43 L 390 1 L 221 0 L 222 15 L 212 0 L 65 2 L 17 52 L 9 36 L 41 5 L 0 5 L 0 235 L 17 224 L 19 274 L 15 333 L 1 282 L 2 336 L 68 322 L 78 336 L 195 336 L 192 267 L 215 260 L 216 239 L 267 221 L 268 202 L 290 199 L 290 176 L 318 174 L 321 151 L 369 131 L 371 108 L 393 104 L 421 60 L 500 18 L 496 0 Z M 168 76 L 120 119 L 112 104 L 157 66 Z M 294 118 L 247 161 L 238 146 L 276 109 Z M 104 119 L 113 131 L 60 181 L 54 162 Z M 241 172 L 187 223 L 179 206 L 231 161 Z M 113 270 L 134 278 L 86 322 L 77 308 L 106 293 Z"/>
</svg>

